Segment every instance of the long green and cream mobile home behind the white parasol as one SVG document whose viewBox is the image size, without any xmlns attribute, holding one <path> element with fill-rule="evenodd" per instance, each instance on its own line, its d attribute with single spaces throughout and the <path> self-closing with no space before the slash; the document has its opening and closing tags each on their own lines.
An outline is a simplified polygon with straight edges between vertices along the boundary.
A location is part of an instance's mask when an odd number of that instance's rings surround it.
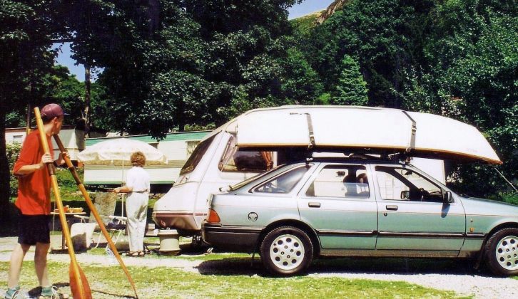
<svg viewBox="0 0 518 299">
<path fill-rule="evenodd" d="M 168 163 L 163 165 L 149 165 L 144 167 L 151 175 L 151 184 L 171 185 L 176 181 L 183 164 L 192 154 L 194 148 L 200 140 L 210 131 L 197 132 L 177 132 L 166 135 L 164 140 L 156 141 L 149 135 L 129 135 L 124 136 L 128 139 L 146 142 L 163 152 L 168 158 Z M 91 147 L 98 142 L 111 140 L 120 137 L 88 138 L 86 147 Z M 126 180 L 126 172 L 131 168 L 127 165 L 122 169 L 121 166 L 114 165 L 92 165 L 84 166 L 84 184 L 86 185 L 120 185 Z"/>
</svg>

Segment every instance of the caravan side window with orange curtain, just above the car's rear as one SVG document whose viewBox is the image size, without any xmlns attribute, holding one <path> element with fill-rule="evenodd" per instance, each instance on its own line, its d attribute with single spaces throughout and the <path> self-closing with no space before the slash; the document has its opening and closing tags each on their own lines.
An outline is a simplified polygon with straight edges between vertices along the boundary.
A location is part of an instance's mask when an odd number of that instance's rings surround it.
<svg viewBox="0 0 518 299">
<path fill-rule="evenodd" d="M 245 151 L 235 147 L 235 136 L 228 140 L 219 163 L 222 172 L 265 172 L 272 169 L 272 152 Z"/>
</svg>

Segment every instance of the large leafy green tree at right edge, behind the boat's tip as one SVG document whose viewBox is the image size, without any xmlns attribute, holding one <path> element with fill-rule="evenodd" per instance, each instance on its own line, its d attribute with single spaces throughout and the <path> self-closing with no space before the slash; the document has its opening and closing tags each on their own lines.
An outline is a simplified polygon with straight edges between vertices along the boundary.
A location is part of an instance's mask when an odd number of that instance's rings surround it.
<svg viewBox="0 0 518 299">
<path fill-rule="evenodd" d="M 434 78 L 427 86 L 443 95 L 435 98 L 442 112 L 478 127 L 509 178 L 518 177 L 517 13 L 516 1 L 445 1 L 437 6 L 435 39 L 425 48 L 432 65 L 425 74 Z M 457 185 L 467 194 L 506 189 L 489 167 L 459 165 L 456 171 Z"/>
</svg>

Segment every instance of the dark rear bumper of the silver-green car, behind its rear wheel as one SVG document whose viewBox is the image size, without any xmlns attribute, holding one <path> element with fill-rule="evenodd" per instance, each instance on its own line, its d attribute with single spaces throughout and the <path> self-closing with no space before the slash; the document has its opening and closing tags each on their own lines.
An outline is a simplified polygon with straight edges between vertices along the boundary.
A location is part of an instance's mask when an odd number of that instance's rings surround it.
<svg viewBox="0 0 518 299">
<path fill-rule="evenodd" d="M 201 237 L 216 248 L 234 252 L 253 252 L 258 246 L 262 228 L 201 224 Z"/>
</svg>

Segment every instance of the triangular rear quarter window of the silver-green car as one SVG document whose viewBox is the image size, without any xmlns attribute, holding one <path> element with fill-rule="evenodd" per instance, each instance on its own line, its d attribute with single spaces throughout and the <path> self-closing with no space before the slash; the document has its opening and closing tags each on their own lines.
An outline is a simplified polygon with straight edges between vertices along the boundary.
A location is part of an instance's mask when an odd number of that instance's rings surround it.
<svg viewBox="0 0 518 299">
<path fill-rule="evenodd" d="M 312 166 L 313 164 L 306 164 L 295 167 L 288 172 L 284 172 L 283 174 L 270 179 L 268 182 L 260 184 L 259 187 L 253 189 L 253 192 L 280 194 L 289 193 Z"/>
</svg>

